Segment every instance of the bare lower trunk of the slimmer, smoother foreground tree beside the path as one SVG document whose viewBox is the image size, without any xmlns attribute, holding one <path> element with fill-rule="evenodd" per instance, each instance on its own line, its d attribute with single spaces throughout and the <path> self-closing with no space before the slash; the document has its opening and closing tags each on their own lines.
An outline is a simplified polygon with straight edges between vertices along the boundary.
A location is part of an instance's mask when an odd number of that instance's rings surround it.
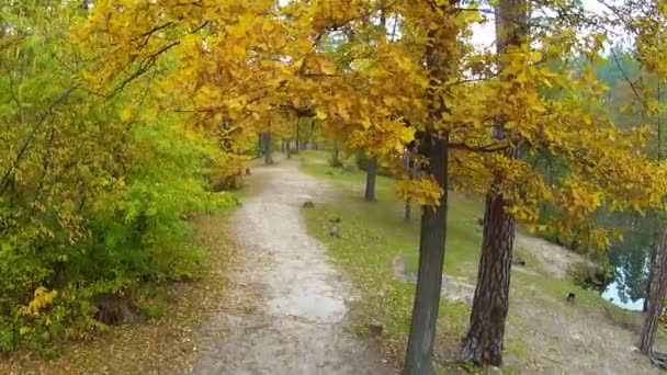
<svg viewBox="0 0 667 375">
<path fill-rule="evenodd" d="M 431 355 L 436 338 L 436 322 L 440 306 L 442 287 L 442 264 L 444 261 L 444 241 L 446 234 L 446 185 L 448 185 L 448 141 L 446 135 L 441 138 L 427 136 L 422 152 L 431 173 L 440 185 L 441 196 L 438 207 L 422 207 L 421 229 L 419 237 L 419 272 L 417 292 L 412 308 L 412 321 L 405 360 L 404 374 L 434 374 Z"/>
</svg>

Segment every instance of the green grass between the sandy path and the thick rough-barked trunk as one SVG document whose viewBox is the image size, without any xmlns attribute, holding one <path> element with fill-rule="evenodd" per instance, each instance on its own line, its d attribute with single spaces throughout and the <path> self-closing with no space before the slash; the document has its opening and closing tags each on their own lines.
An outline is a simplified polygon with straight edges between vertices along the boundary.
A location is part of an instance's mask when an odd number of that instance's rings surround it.
<svg viewBox="0 0 667 375">
<path fill-rule="evenodd" d="M 326 156 L 317 151 L 298 155 L 302 169 L 308 174 L 327 179 L 340 188 L 342 204 L 318 204 L 304 209 L 309 230 L 328 246 L 332 258 L 349 274 L 363 293 L 353 303 L 353 326 L 358 333 L 365 334 L 365 326 L 378 321 L 384 326 L 385 351 L 399 363 L 405 338 L 409 331 L 415 286 L 397 281 L 392 261 L 405 259 L 406 271 L 416 272 L 418 264 L 419 220 L 403 221 L 404 202 L 397 200 L 392 190 L 392 180 L 377 178 L 377 202 L 368 203 L 363 196 L 363 175 L 329 168 Z M 459 194 L 452 194 L 449 206 L 449 232 L 445 255 L 445 273 L 453 276 L 470 276 L 476 272 L 476 262 L 482 232 L 474 223 L 482 203 Z M 417 207 L 412 209 L 419 215 Z M 329 236 L 335 218 L 340 218 L 341 238 Z M 439 341 L 456 341 L 464 333 L 470 310 L 464 304 L 441 300 Z M 519 345 L 515 345 L 519 348 Z M 450 348 L 454 349 L 454 348 Z M 520 349 L 522 350 L 522 349 Z M 451 356 L 452 353 L 449 353 Z"/>
</svg>

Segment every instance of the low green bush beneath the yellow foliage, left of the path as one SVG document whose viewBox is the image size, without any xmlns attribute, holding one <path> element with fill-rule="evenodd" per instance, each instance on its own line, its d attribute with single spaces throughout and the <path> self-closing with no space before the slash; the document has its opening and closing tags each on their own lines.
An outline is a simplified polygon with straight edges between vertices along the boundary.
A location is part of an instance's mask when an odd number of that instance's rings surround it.
<svg viewBox="0 0 667 375">
<path fill-rule="evenodd" d="M 95 296 L 129 296 L 143 283 L 196 276 L 202 249 L 189 245 L 184 217 L 234 201 L 206 191 L 200 150 L 168 127 L 137 128 L 131 147 L 143 157 L 134 160 L 116 201 L 102 193 L 95 198 L 108 204 L 81 205 L 83 234 L 75 241 L 54 219 L 56 205 L 26 219 L 0 201 L 0 351 L 25 345 L 52 357 L 63 340 L 105 329 L 93 319 Z M 55 292 L 53 300 L 41 303 L 42 289 Z M 31 303 L 39 307 L 27 314 Z"/>
</svg>

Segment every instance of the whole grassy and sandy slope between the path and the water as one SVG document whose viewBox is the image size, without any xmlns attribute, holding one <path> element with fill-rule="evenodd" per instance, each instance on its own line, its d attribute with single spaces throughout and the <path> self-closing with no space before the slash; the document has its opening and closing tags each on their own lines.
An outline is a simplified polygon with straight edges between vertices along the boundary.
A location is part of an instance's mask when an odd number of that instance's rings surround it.
<svg viewBox="0 0 667 375">
<path fill-rule="evenodd" d="M 368 334 L 370 322 L 384 325 L 381 342 L 395 363 L 402 361 L 412 304 L 414 285 L 396 277 L 397 259 L 404 272 L 417 264 L 418 218 L 403 223 L 403 203 L 380 178 L 376 203 L 363 202 L 363 174 L 331 169 L 326 155 L 302 152 L 307 173 L 330 181 L 339 190 L 335 205 L 304 211 L 312 232 L 364 291 L 352 306 L 358 333 Z M 445 254 L 445 282 L 440 307 L 437 356 L 448 373 L 462 372 L 453 360 L 464 333 L 474 293 L 482 204 L 452 194 Z M 332 224 L 339 221 L 340 224 Z M 340 238 L 330 236 L 332 226 Z M 542 239 L 519 235 L 517 254 L 527 262 L 512 272 L 510 312 L 504 372 L 534 374 L 652 374 L 648 360 L 634 352 L 641 316 L 621 310 L 592 292 L 576 287 L 565 268 L 584 261 Z M 405 277 L 404 277 L 405 279 Z M 576 303 L 565 302 L 567 293 Z M 660 342 L 662 343 L 662 342 Z"/>
</svg>

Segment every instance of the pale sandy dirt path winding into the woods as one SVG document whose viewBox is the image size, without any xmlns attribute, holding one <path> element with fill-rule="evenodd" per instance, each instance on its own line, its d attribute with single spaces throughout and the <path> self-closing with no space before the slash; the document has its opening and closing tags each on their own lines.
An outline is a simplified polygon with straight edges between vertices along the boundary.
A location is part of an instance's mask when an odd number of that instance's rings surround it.
<svg viewBox="0 0 667 375">
<path fill-rule="evenodd" d="M 224 339 L 200 348 L 195 374 L 394 374 L 344 327 L 353 291 L 306 234 L 305 201 L 326 185 L 292 162 L 253 170 L 258 192 L 231 217 L 242 247 L 214 325 Z"/>
</svg>

